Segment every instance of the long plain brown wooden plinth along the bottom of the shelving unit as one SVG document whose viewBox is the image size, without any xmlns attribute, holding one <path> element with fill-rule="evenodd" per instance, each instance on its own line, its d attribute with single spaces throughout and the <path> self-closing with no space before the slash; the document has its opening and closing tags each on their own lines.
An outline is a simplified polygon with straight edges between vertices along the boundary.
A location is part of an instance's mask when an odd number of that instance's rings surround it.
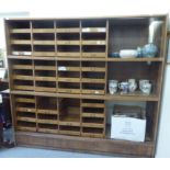
<svg viewBox="0 0 170 170">
<path fill-rule="evenodd" d="M 15 139 L 19 146 L 29 147 L 123 155 L 125 157 L 154 157 L 155 155 L 155 147 L 151 141 L 135 143 L 27 132 L 16 132 Z"/>
</svg>

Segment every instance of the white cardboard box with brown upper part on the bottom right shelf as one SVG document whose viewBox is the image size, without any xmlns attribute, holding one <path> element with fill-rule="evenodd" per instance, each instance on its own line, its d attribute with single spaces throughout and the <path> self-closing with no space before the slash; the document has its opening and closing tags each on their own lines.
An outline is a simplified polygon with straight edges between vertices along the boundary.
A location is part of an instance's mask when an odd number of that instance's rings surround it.
<svg viewBox="0 0 170 170">
<path fill-rule="evenodd" d="M 115 106 L 114 114 L 112 115 L 111 138 L 145 141 L 145 134 L 146 116 L 141 107 Z"/>
</svg>

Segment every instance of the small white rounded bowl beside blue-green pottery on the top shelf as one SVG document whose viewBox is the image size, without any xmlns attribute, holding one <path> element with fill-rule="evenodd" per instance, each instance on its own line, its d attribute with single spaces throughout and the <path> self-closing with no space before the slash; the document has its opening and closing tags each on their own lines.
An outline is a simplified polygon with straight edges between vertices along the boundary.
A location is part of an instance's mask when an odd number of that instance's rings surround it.
<svg viewBox="0 0 170 170">
<path fill-rule="evenodd" d="M 137 50 L 135 49 L 122 49 L 120 50 L 121 58 L 135 58 L 137 57 Z"/>
</svg>

